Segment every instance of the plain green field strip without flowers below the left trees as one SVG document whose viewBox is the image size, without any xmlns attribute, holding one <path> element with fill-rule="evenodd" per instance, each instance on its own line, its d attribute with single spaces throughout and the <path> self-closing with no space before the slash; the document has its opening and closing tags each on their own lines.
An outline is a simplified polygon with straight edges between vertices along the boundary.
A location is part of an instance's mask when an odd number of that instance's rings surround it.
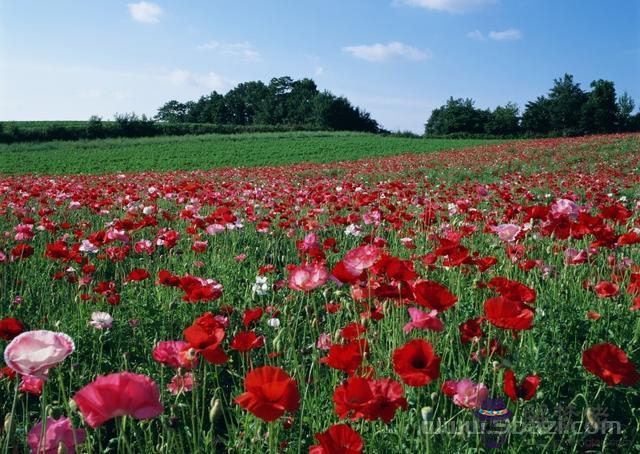
<svg viewBox="0 0 640 454">
<path fill-rule="evenodd" d="M 19 143 L 0 145 L 0 173 L 106 173 L 332 162 L 496 142 L 286 132 Z"/>
</svg>

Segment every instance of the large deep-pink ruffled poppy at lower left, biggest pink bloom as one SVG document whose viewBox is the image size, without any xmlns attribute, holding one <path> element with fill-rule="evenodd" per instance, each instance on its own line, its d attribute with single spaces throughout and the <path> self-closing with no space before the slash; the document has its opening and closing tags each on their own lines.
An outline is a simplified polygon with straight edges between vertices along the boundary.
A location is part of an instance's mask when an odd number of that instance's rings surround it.
<svg viewBox="0 0 640 454">
<path fill-rule="evenodd" d="M 158 385 L 146 375 L 131 372 L 99 375 L 73 400 L 85 422 L 94 429 L 117 416 L 152 419 L 164 411 Z"/>
</svg>

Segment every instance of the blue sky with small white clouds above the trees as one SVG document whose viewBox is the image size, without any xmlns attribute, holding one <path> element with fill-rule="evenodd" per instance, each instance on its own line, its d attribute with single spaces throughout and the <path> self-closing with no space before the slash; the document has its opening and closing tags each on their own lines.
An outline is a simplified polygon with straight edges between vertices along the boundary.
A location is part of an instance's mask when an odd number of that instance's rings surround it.
<svg viewBox="0 0 640 454">
<path fill-rule="evenodd" d="M 288 75 L 422 132 L 449 96 L 522 108 L 564 73 L 640 104 L 640 0 L 0 0 L 0 121 L 152 116 Z"/>
</svg>

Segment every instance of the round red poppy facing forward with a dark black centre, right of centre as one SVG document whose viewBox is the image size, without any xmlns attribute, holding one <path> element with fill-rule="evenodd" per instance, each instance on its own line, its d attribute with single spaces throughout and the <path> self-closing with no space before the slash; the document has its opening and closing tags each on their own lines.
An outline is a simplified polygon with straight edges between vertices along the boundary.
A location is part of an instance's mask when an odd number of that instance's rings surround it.
<svg viewBox="0 0 640 454">
<path fill-rule="evenodd" d="M 409 386 L 424 386 L 440 376 L 440 357 L 431 344 L 414 339 L 393 352 L 393 370 Z"/>
</svg>

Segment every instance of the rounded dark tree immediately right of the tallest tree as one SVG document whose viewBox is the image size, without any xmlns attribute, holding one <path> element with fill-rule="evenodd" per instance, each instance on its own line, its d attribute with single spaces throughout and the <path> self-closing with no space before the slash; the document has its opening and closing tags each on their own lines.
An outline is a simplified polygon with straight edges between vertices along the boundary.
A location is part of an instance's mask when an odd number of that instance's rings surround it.
<svg viewBox="0 0 640 454">
<path fill-rule="evenodd" d="M 616 89 L 609 80 L 594 80 L 582 106 L 581 129 L 587 133 L 607 133 L 618 129 Z"/>
</svg>

